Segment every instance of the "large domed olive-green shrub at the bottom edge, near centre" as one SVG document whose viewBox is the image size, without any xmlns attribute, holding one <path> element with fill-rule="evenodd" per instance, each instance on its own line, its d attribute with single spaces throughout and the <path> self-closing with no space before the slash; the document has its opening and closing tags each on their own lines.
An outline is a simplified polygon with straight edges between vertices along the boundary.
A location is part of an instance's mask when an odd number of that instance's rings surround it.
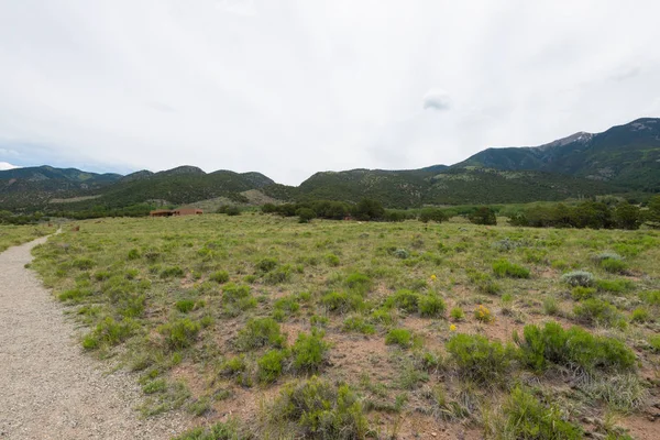
<svg viewBox="0 0 660 440">
<path fill-rule="evenodd" d="M 351 440 L 367 433 L 362 405 L 351 388 L 316 376 L 288 384 L 266 414 L 268 438 Z"/>
</svg>

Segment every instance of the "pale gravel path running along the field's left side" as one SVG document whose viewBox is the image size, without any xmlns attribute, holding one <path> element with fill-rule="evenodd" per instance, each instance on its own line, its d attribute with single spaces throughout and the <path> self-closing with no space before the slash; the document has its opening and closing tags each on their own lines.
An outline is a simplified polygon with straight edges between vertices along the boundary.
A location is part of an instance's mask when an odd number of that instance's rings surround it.
<svg viewBox="0 0 660 440">
<path fill-rule="evenodd" d="M 0 439 L 169 439 L 184 418 L 142 420 L 134 377 L 106 374 L 73 322 L 25 270 L 46 238 L 0 254 Z"/>
</svg>

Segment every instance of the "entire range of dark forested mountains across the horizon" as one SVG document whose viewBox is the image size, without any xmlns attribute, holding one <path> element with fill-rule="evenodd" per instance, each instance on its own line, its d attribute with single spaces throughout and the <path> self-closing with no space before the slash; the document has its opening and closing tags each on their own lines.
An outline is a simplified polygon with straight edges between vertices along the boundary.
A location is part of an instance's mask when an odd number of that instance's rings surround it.
<svg viewBox="0 0 660 440">
<path fill-rule="evenodd" d="M 660 119 L 642 118 L 539 146 L 486 148 L 451 166 L 320 172 L 297 187 L 276 184 L 261 173 L 207 174 L 194 166 L 127 176 L 51 166 L 0 170 L 0 209 L 14 211 L 186 205 L 215 198 L 248 202 L 370 197 L 387 207 L 407 208 L 639 191 L 660 191 Z"/>
</svg>

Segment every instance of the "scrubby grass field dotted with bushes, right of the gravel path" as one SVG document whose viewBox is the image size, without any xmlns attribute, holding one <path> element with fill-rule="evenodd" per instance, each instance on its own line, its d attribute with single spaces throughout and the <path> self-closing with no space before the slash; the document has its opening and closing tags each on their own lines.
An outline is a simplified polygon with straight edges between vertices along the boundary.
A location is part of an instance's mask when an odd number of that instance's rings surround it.
<svg viewBox="0 0 660 440">
<path fill-rule="evenodd" d="M 652 439 L 660 232 L 79 222 L 33 267 L 182 439 Z"/>
</svg>

